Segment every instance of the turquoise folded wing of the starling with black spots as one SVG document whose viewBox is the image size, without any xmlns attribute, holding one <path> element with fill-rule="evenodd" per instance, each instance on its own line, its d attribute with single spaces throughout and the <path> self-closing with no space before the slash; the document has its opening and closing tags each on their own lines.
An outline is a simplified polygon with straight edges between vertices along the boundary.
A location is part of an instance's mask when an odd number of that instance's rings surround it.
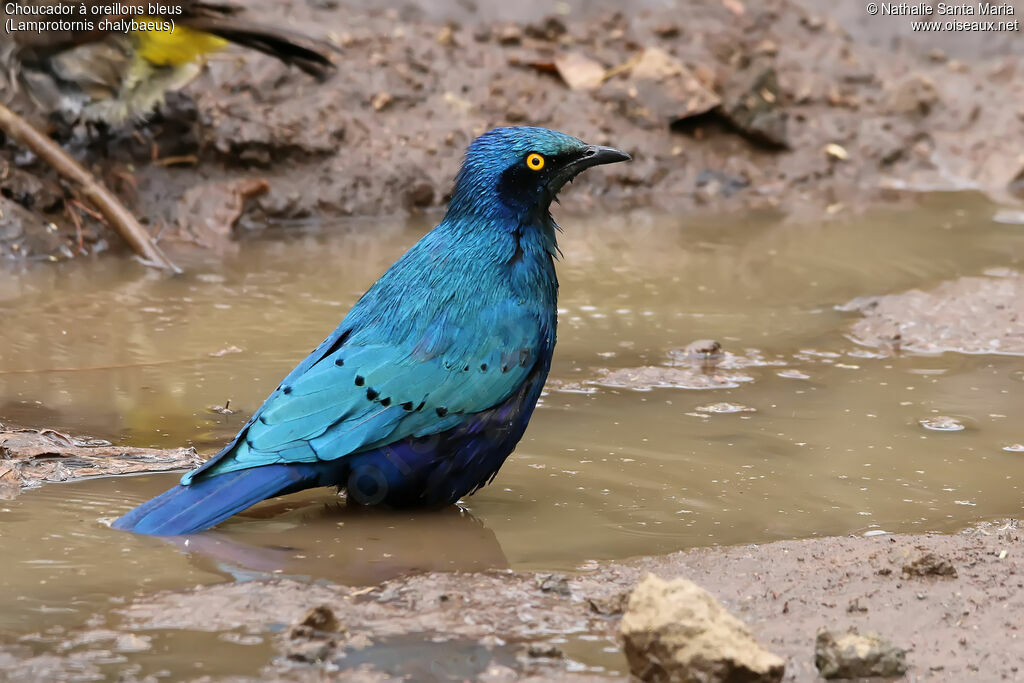
<svg viewBox="0 0 1024 683">
<path fill-rule="evenodd" d="M 236 441 L 202 470 L 336 460 L 451 429 L 511 395 L 547 332 L 516 302 L 474 325 L 438 316 L 404 343 L 367 343 L 373 329 L 343 323 L 264 401 Z"/>
</svg>

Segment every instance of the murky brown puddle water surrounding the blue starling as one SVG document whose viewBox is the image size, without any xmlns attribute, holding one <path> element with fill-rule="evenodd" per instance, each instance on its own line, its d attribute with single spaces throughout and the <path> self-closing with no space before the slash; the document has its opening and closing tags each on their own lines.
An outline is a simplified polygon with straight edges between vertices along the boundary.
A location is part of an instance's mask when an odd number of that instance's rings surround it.
<svg viewBox="0 0 1024 683">
<path fill-rule="evenodd" d="M 845 337 L 851 315 L 835 309 L 1019 266 L 1024 229 L 994 213 L 958 195 L 814 222 L 564 217 L 555 383 L 664 366 L 699 338 L 777 365 L 745 369 L 753 381 L 727 389 L 551 390 L 466 512 L 360 513 L 321 489 L 266 503 L 184 547 L 103 525 L 176 475 L 26 492 L 0 501 L 0 643 L 40 633 L 31 646 L 47 651 L 60 629 L 161 588 L 570 569 L 701 545 L 953 530 L 1017 515 L 1024 454 L 1004 447 L 1024 442 L 1024 358 L 879 357 Z M 173 280 L 115 259 L 0 272 L 0 422 L 215 451 L 427 226 L 353 223 L 249 242 L 226 262 L 194 256 Z M 228 400 L 238 413 L 210 410 Z M 719 402 L 753 411 L 698 410 Z M 935 415 L 967 429 L 920 425 Z M 111 671 L 128 660 L 142 673 L 255 673 L 269 651 L 260 638 L 207 636 L 202 647 L 217 654 L 196 668 L 175 654 L 193 647 L 188 634 L 153 638 L 142 653 L 108 644 Z"/>
</svg>

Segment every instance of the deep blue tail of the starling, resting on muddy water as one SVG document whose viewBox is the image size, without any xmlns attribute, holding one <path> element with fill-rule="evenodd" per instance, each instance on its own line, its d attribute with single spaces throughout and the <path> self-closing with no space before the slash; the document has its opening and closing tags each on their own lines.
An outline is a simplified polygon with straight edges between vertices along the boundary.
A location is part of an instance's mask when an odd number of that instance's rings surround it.
<svg viewBox="0 0 1024 683">
<path fill-rule="evenodd" d="M 177 485 L 120 517 L 114 528 L 153 536 L 201 531 L 273 496 L 324 485 L 324 465 L 264 465 Z"/>
</svg>

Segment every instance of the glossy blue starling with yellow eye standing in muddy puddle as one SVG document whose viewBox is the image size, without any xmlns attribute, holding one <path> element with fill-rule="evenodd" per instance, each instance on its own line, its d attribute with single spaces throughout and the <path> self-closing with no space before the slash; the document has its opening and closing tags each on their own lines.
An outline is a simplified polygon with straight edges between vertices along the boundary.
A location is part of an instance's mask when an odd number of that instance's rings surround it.
<svg viewBox="0 0 1024 683">
<path fill-rule="evenodd" d="M 626 159 L 541 128 L 477 138 L 440 224 L 230 443 L 115 526 L 187 533 L 311 486 L 411 507 L 447 505 L 487 483 L 522 437 L 551 367 L 551 201 L 584 169 Z"/>
</svg>

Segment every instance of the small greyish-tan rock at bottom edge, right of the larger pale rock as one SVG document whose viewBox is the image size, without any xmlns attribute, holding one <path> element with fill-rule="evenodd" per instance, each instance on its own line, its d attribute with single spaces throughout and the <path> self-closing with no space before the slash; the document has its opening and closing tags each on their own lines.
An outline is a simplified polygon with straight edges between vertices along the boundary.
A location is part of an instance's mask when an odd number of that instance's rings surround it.
<svg viewBox="0 0 1024 683">
<path fill-rule="evenodd" d="M 814 666 L 823 678 L 892 678 L 906 673 L 906 652 L 877 633 L 818 632 Z"/>
</svg>

